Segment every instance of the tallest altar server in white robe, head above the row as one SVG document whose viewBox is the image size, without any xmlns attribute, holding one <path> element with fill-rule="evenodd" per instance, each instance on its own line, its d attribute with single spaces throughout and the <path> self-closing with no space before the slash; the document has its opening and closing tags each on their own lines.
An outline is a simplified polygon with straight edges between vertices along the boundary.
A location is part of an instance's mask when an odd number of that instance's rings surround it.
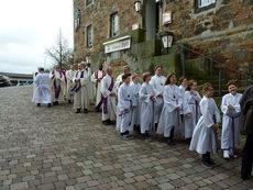
<svg viewBox="0 0 253 190">
<path fill-rule="evenodd" d="M 155 127 L 157 128 L 157 123 L 160 121 L 160 116 L 163 110 L 164 101 L 163 101 L 163 91 L 164 91 L 164 82 L 166 78 L 162 76 L 162 66 L 155 67 L 155 76 L 151 78 L 151 86 L 154 88 L 156 96 L 155 103 Z"/>
</svg>

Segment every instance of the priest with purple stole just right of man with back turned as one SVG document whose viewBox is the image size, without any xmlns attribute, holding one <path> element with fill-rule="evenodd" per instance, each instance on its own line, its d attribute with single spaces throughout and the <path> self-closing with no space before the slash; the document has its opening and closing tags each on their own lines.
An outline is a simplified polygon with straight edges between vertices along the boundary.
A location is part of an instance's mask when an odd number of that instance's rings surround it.
<svg viewBox="0 0 253 190">
<path fill-rule="evenodd" d="M 67 85 L 66 75 L 61 70 L 59 65 L 55 65 L 54 70 L 51 71 L 50 80 L 52 101 L 54 105 L 57 105 L 58 102 L 64 101 Z"/>
</svg>

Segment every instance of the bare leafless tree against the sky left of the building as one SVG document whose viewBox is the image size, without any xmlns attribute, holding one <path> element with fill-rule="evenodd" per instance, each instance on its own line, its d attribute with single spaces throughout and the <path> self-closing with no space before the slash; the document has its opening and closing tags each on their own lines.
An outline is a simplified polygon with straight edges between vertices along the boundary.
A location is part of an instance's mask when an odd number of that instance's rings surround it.
<svg viewBox="0 0 253 190">
<path fill-rule="evenodd" d="M 74 51 L 68 47 L 68 41 L 63 36 L 62 30 L 59 30 L 55 45 L 46 48 L 45 54 L 54 62 L 54 65 L 57 64 L 61 68 L 74 64 Z"/>
</svg>

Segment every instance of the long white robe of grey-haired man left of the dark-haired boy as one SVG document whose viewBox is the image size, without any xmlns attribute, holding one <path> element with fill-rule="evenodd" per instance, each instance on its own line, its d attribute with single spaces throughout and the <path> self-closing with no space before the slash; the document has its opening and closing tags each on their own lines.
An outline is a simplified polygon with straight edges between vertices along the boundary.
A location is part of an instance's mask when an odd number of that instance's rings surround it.
<svg viewBox="0 0 253 190">
<path fill-rule="evenodd" d="M 109 89 L 112 87 L 111 89 Z M 110 93 L 114 92 L 117 93 L 114 79 L 113 77 L 107 75 L 103 77 L 101 81 L 101 93 L 105 99 L 107 99 L 107 110 L 105 109 L 106 102 L 102 103 L 102 121 L 116 121 L 116 113 L 117 113 L 117 107 L 116 107 L 116 97 L 111 97 Z"/>
</svg>

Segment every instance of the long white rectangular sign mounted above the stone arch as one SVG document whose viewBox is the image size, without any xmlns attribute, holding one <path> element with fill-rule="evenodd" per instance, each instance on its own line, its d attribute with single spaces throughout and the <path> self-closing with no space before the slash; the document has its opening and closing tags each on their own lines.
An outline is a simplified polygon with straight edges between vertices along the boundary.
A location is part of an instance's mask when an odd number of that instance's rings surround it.
<svg viewBox="0 0 253 190">
<path fill-rule="evenodd" d="M 102 45 L 105 45 L 106 54 L 128 49 L 131 47 L 131 36 L 128 35 L 120 38 L 116 38 L 113 41 L 106 42 Z"/>
</svg>

